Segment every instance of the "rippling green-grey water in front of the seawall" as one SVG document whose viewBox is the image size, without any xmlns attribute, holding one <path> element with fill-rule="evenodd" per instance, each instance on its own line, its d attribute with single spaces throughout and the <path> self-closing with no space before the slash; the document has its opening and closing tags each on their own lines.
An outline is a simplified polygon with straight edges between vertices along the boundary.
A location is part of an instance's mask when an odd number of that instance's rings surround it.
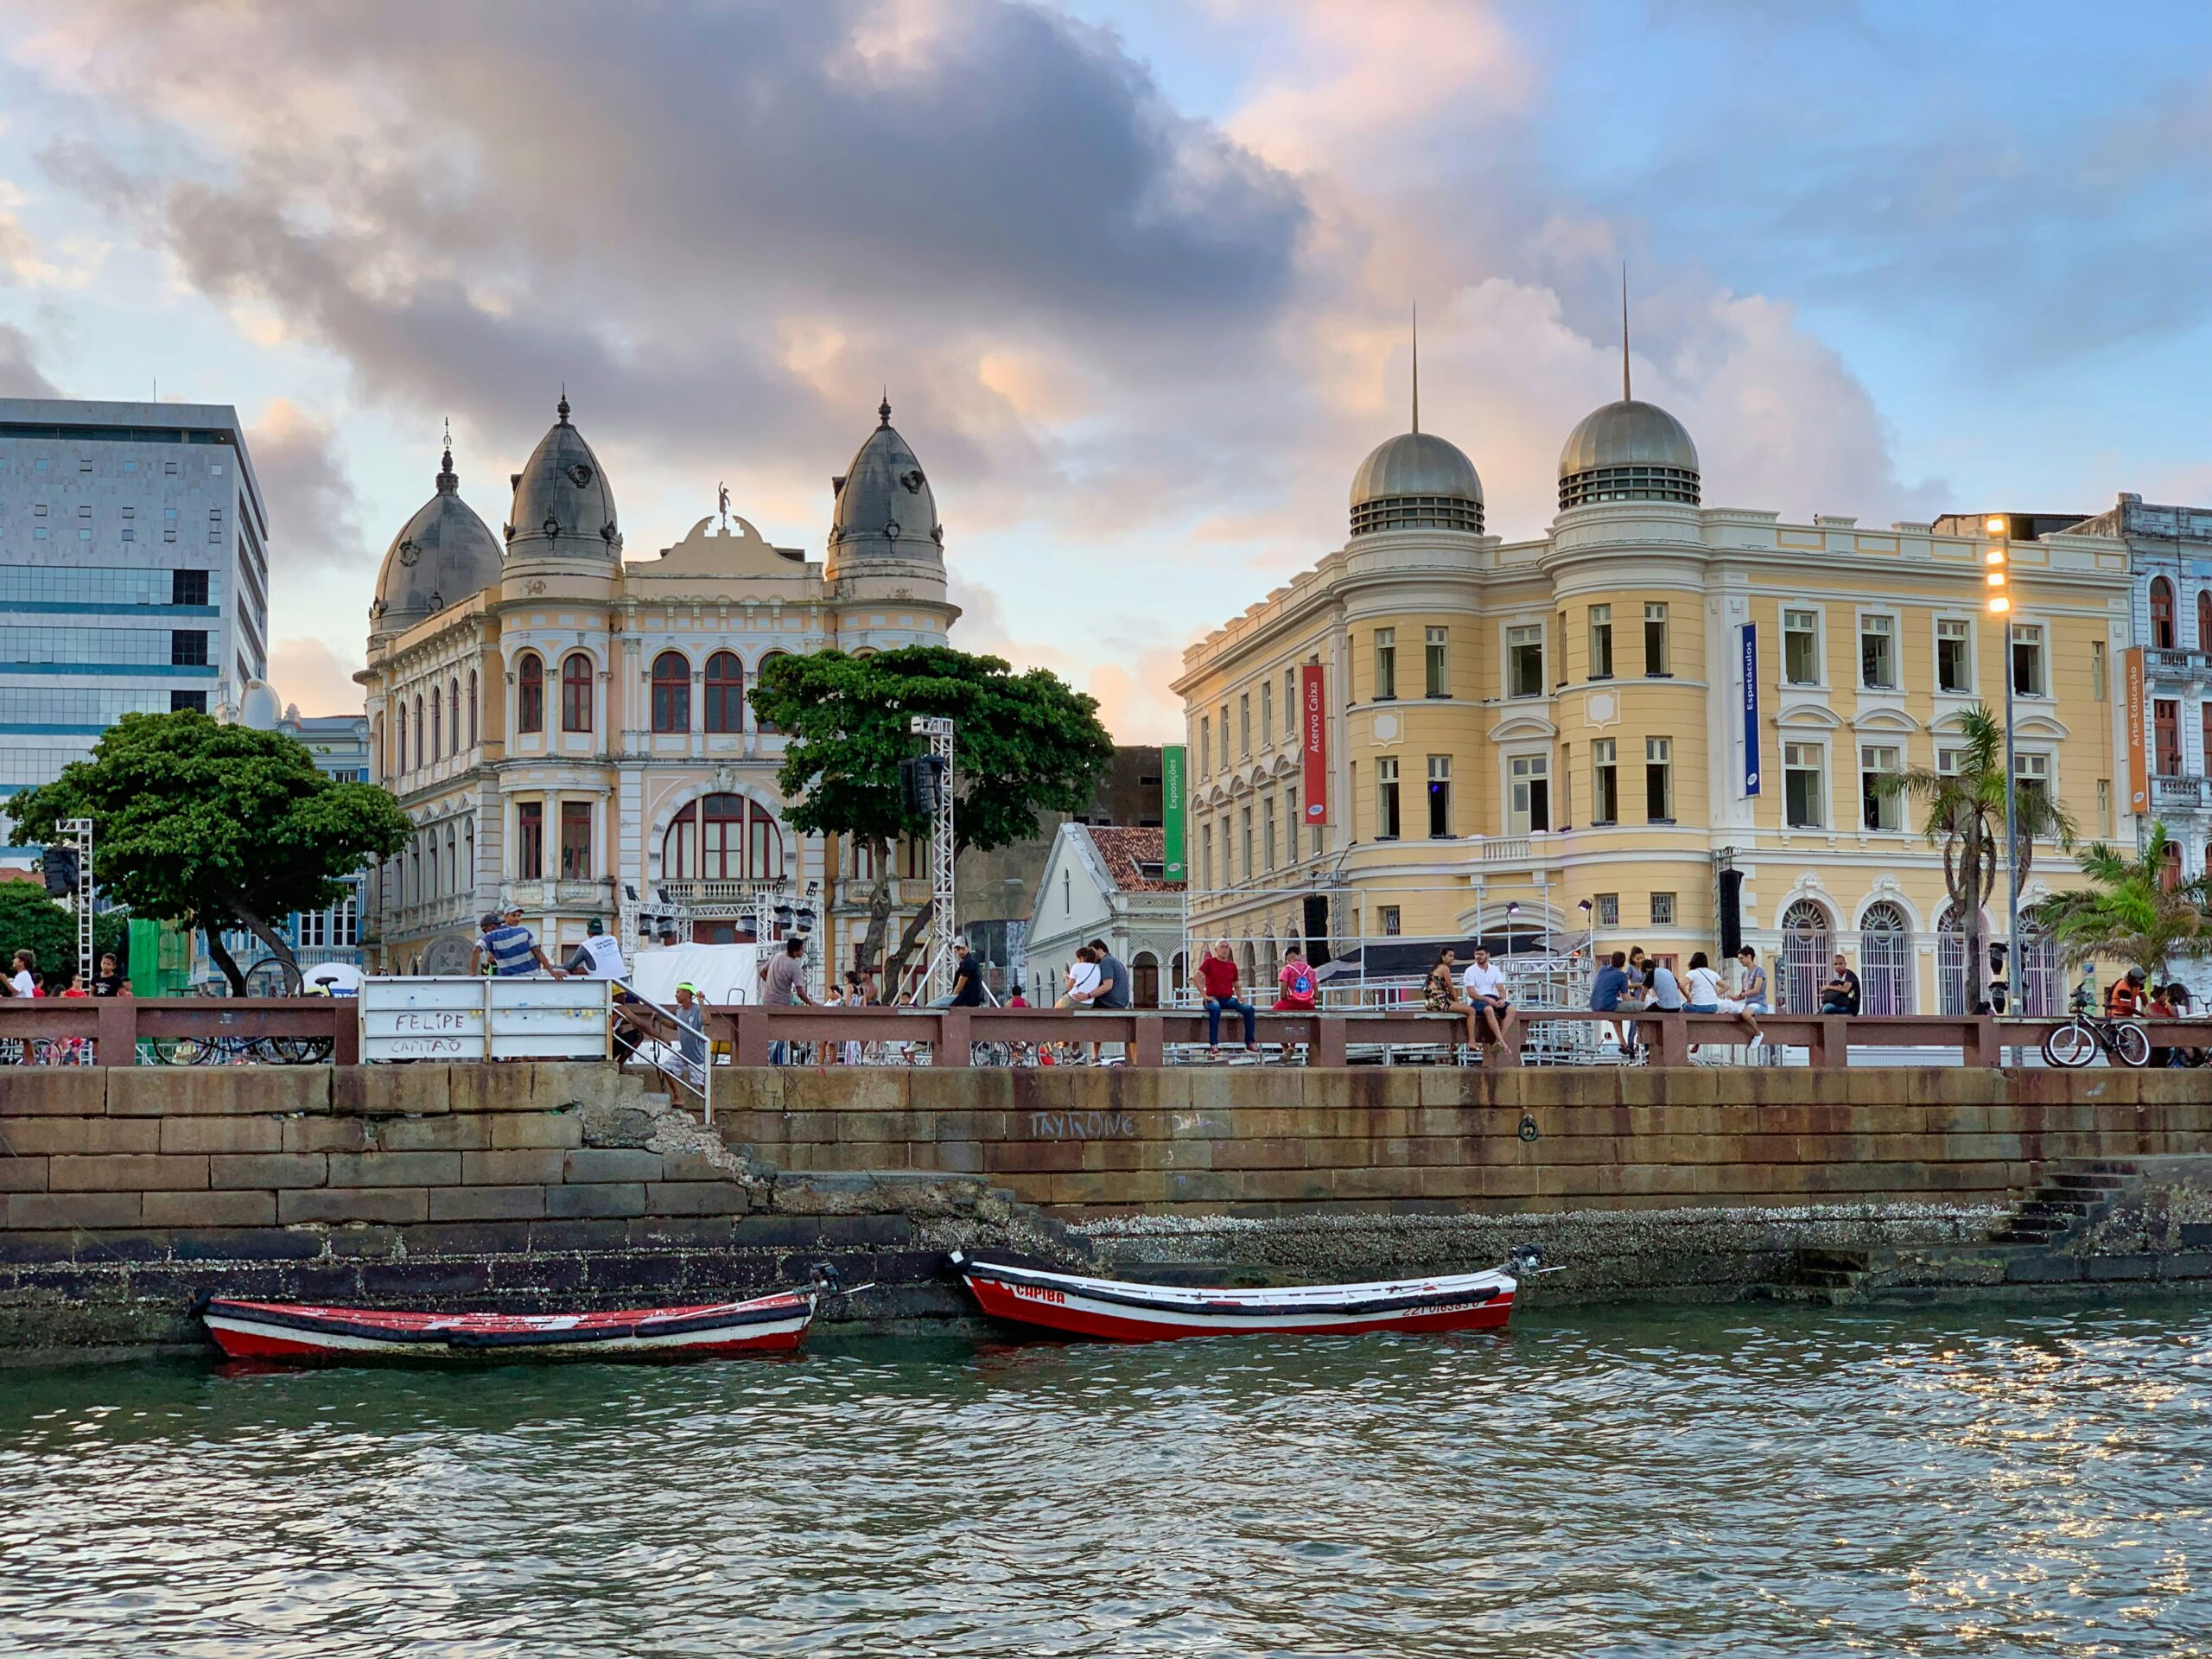
<svg viewBox="0 0 2212 1659">
<path fill-rule="evenodd" d="M 0 1652 L 2199 1655 L 2212 1310 L 0 1371 Z"/>
</svg>

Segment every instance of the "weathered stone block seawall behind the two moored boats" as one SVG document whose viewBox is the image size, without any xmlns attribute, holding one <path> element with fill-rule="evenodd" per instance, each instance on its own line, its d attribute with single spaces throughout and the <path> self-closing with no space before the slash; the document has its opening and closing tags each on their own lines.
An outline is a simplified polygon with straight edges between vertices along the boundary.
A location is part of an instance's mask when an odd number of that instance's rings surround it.
<svg viewBox="0 0 2212 1659">
<path fill-rule="evenodd" d="M 615 1307 L 816 1261 L 878 1283 L 825 1318 L 951 1318 L 953 1245 L 1287 1283 L 1535 1239 L 1566 1263 L 1537 1303 L 2093 1281 L 2079 1259 L 2115 1252 L 1989 1239 L 2068 1159 L 2212 1155 L 2203 1095 L 2126 1071 L 732 1068 L 710 1133 L 608 1066 L 22 1068 L 0 1349 L 197 1343 L 201 1292 Z M 2101 1272 L 2212 1276 L 2203 1225 Z"/>
</svg>

